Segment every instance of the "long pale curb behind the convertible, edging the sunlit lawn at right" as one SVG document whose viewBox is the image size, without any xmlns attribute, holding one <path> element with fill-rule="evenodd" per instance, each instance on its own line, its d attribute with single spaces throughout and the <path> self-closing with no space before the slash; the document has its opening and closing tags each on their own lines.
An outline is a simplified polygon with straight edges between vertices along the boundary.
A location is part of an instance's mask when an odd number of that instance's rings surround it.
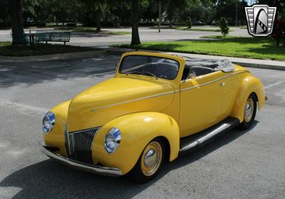
<svg viewBox="0 0 285 199">
<path fill-rule="evenodd" d="M 108 51 L 108 53 L 113 53 L 116 55 L 121 55 L 123 53 L 132 52 L 135 51 L 135 49 L 130 48 L 115 48 L 115 47 L 102 47 L 100 49 L 104 49 Z M 285 70 L 285 62 L 281 61 L 274 61 L 274 60 L 256 60 L 256 59 L 248 59 L 248 58 L 232 58 L 232 57 L 223 57 L 223 56 L 216 56 L 216 55 L 199 55 L 199 54 L 187 54 L 187 53 L 175 53 L 175 52 L 163 52 L 163 51 L 157 51 L 157 50 L 142 50 L 142 51 L 150 51 L 154 53 L 171 53 L 171 54 L 177 54 L 177 55 L 188 55 L 192 57 L 202 57 L 202 58 L 227 58 L 228 60 L 232 61 L 232 63 L 237 65 L 242 65 L 243 67 L 247 68 L 262 68 L 262 69 L 271 69 L 271 70 Z M 239 61 L 240 60 L 240 61 Z M 252 61 L 251 61 L 252 60 Z M 266 64 L 264 62 L 271 62 L 270 64 Z M 275 64 L 274 63 L 278 63 Z"/>
</svg>

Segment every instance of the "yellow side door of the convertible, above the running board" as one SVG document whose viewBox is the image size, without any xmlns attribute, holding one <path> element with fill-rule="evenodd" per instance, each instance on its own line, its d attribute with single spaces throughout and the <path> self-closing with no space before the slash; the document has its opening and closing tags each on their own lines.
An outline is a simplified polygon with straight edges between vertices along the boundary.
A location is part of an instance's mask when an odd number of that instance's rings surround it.
<svg viewBox="0 0 285 199">
<path fill-rule="evenodd" d="M 189 136 L 222 120 L 222 71 L 182 81 L 180 84 L 180 136 Z"/>
</svg>

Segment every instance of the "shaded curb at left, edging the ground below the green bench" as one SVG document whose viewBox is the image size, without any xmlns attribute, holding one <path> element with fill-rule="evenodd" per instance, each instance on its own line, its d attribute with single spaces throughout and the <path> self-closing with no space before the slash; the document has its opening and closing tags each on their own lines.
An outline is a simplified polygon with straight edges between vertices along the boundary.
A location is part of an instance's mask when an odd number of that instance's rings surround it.
<svg viewBox="0 0 285 199">
<path fill-rule="evenodd" d="M 30 62 L 30 61 L 43 61 L 43 60 L 60 60 L 60 59 L 70 59 L 70 58 L 83 58 L 86 56 L 98 55 L 106 53 L 106 50 L 91 50 L 85 52 L 77 53 L 61 53 L 61 54 L 52 54 L 52 55 L 36 55 L 36 56 L 27 56 L 27 57 L 9 57 L 9 56 L 0 56 L 0 62 Z"/>
</svg>

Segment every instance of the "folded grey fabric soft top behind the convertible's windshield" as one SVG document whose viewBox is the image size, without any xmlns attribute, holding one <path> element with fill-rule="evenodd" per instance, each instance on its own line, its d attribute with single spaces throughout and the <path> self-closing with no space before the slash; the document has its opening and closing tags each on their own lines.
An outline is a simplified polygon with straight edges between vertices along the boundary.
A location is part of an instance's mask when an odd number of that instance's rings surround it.
<svg viewBox="0 0 285 199">
<path fill-rule="evenodd" d="M 223 72 L 234 71 L 234 65 L 229 60 L 217 60 L 217 59 L 203 59 L 203 58 L 189 58 L 184 57 L 186 63 L 185 66 L 191 68 L 192 66 L 212 68 L 214 71 L 222 70 Z"/>
</svg>

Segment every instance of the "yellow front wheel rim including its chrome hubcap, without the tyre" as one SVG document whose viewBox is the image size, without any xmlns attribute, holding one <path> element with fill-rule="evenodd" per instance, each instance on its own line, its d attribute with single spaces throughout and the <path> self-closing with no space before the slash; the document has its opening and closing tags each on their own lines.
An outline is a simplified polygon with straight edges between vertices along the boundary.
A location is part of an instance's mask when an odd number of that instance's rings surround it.
<svg viewBox="0 0 285 199">
<path fill-rule="evenodd" d="M 150 142 L 142 153 L 142 161 L 140 163 L 142 173 L 145 176 L 152 176 L 160 167 L 161 160 L 162 148 L 160 143 L 157 141 Z"/>
</svg>

